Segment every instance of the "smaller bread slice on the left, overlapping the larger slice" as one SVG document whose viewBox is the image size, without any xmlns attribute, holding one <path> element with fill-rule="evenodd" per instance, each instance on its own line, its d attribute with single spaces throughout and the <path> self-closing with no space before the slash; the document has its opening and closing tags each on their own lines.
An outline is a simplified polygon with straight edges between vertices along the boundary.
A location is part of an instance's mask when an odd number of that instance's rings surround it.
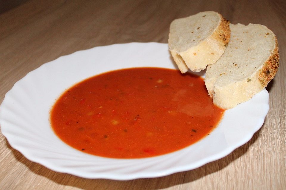
<svg viewBox="0 0 286 190">
<path fill-rule="evenodd" d="M 182 73 L 200 72 L 223 54 L 229 42 L 229 21 L 217 12 L 200 12 L 173 20 L 169 49 Z"/>
</svg>

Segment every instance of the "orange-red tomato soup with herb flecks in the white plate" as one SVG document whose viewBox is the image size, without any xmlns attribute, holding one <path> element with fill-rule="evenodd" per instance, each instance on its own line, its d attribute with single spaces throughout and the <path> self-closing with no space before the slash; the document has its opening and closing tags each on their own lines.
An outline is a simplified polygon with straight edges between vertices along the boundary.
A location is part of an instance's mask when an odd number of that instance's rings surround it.
<svg viewBox="0 0 286 190">
<path fill-rule="evenodd" d="M 163 68 L 131 68 L 88 78 L 52 107 L 57 136 L 71 147 L 110 158 L 144 158 L 185 148 L 208 135 L 224 110 L 204 81 Z"/>
</svg>

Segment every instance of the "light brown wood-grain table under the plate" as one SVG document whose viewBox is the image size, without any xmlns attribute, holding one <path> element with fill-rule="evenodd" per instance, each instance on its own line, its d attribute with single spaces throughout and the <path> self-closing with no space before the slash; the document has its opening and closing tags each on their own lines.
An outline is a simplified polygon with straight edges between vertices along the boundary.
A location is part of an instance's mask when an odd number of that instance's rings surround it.
<svg viewBox="0 0 286 190">
<path fill-rule="evenodd" d="M 0 102 L 28 72 L 59 56 L 126 42 L 167 43 L 175 18 L 220 12 L 277 36 L 280 67 L 268 85 L 270 110 L 254 137 L 228 156 L 161 178 L 113 181 L 54 172 L 26 159 L 0 134 L 0 189 L 286 189 L 285 1 L 30 0 L 0 15 Z"/>
</svg>

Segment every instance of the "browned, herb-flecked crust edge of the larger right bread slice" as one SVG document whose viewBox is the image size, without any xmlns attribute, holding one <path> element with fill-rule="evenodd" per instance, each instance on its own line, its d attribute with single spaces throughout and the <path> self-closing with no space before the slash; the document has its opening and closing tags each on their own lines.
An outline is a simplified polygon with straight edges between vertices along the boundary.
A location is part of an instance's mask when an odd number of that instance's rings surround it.
<svg viewBox="0 0 286 190">
<path fill-rule="evenodd" d="M 265 61 L 262 68 L 259 70 L 258 80 L 262 87 L 265 88 L 269 81 L 273 79 L 279 67 L 279 47 L 277 38 L 275 37 L 275 47 L 271 56 Z"/>
</svg>

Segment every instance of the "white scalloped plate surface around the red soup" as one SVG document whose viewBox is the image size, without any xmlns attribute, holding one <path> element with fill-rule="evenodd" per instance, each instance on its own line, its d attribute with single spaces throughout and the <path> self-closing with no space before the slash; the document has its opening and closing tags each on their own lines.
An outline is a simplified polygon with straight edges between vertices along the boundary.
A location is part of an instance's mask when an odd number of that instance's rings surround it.
<svg viewBox="0 0 286 190">
<path fill-rule="evenodd" d="M 192 170 L 220 159 L 251 139 L 268 112 L 264 89 L 227 110 L 207 137 L 182 150 L 143 159 L 111 159 L 63 143 L 49 123 L 49 111 L 63 91 L 87 77 L 129 67 L 176 68 L 167 44 L 128 43 L 94 47 L 57 58 L 29 72 L 6 94 L 0 107 L 2 134 L 27 159 L 51 170 L 84 178 L 131 180 Z"/>
</svg>

